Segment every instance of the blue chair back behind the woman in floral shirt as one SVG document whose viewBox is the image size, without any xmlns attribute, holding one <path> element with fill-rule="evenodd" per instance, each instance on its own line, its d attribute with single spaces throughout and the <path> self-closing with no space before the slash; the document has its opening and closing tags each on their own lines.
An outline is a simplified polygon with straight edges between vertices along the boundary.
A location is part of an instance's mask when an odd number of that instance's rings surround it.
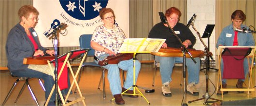
<svg viewBox="0 0 256 106">
<path fill-rule="evenodd" d="M 79 37 L 80 48 L 90 48 L 90 50 L 87 53 L 87 57 L 94 56 L 94 52 L 95 52 L 95 50 L 92 49 L 90 45 L 91 38 L 92 38 L 91 34 L 84 34 Z"/>
</svg>

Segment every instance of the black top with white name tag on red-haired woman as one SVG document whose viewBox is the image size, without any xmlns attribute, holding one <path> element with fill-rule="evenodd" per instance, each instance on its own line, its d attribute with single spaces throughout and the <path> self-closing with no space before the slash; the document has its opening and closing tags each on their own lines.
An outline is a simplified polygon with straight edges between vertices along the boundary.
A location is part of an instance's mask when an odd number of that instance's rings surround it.
<svg viewBox="0 0 256 106">
<path fill-rule="evenodd" d="M 182 42 L 187 39 L 191 41 L 192 45 L 188 46 L 187 48 L 193 48 L 194 44 L 196 43 L 196 37 L 193 35 L 190 29 L 181 23 L 177 23 L 172 29 Z M 169 30 L 169 28 L 162 23 L 156 24 L 149 32 L 148 37 L 166 39 L 165 43 L 167 44 L 167 47 L 181 48 L 182 46 L 171 30 Z"/>
</svg>

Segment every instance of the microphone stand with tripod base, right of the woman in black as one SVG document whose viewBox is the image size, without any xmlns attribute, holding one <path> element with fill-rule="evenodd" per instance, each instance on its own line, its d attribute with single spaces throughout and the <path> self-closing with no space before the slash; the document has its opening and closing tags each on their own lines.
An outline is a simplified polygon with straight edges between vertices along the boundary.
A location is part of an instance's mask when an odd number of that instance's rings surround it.
<svg viewBox="0 0 256 106">
<path fill-rule="evenodd" d="M 194 24 L 193 24 L 193 22 L 191 23 L 191 26 L 192 26 L 192 28 L 197 32 L 197 35 L 199 36 L 199 39 L 200 39 L 200 41 L 202 42 L 202 44 L 204 45 L 204 53 L 206 54 L 206 60 L 208 61 L 209 60 L 209 57 L 211 58 L 211 59 L 213 59 L 213 57 L 211 56 L 211 54 L 210 54 L 210 52 L 209 52 L 209 49 L 206 47 L 206 45 L 204 44 L 204 42 L 203 42 L 203 40 L 202 40 L 202 38 L 200 37 L 200 34 L 199 34 L 199 32 L 197 31 L 197 29 L 195 28 L 195 26 L 194 26 Z M 209 33 L 208 33 L 208 35 L 209 35 Z M 209 38 L 209 37 L 208 37 Z M 212 99 L 212 100 L 216 100 L 216 101 L 222 101 L 222 100 L 218 100 L 218 99 L 214 99 L 214 98 L 211 98 L 210 97 L 210 95 L 209 95 L 209 93 L 208 93 L 208 71 L 209 71 L 209 62 L 206 62 L 206 74 L 205 74 L 205 79 L 206 79 L 206 92 L 205 92 L 205 94 L 202 96 L 202 98 L 199 98 L 199 99 L 196 99 L 196 100 L 192 100 L 192 101 L 188 101 L 188 103 L 190 104 L 190 103 L 192 103 L 192 102 L 195 102 L 195 101 L 199 101 L 199 100 L 202 100 L 202 99 L 204 99 L 206 102 L 207 102 L 207 100 L 208 99 Z"/>
</svg>

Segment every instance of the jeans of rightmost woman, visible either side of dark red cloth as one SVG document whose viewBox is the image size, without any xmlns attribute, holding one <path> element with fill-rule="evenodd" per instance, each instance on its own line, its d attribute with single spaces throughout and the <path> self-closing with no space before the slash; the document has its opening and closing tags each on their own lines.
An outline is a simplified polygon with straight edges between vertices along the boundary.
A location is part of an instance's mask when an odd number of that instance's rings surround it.
<svg viewBox="0 0 256 106">
<path fill-rule="evenodd" d="M 250 63 L 252 63 L 252 58 L 249 58 L 249 61 Z M 220 68 L 221 68 L 221 78 L 223 78 L 223 70 L 224 70 L 223 59 L 221 59 Z M 244 78 L 246 78 L 246 75 L 249 72 L 248 60 L 246 57 L 243 60 L 243 70 L 244 70 Z M 240 79 L 240 80 L 244 82 L 244 79 Z M 225 84 L 227 83 L 226 79 L 222 79 L 222 82 L 224 82 Z"/>
</svg>

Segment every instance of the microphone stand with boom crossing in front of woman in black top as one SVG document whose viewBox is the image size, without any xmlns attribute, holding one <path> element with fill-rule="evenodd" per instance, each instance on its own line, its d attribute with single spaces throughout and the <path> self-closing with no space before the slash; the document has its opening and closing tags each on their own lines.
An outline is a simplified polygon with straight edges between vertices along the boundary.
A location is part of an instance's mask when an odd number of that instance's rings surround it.
<svg viewBox="0 0 256 106">
<path fill-rule="evenodd" d="M 170 33 L 172 32 L 173 35 L 179 40 L 180 44 L 182 45 L 182 53 L 183 53 L 183 81 L 184 81 L 184 103 L 182 104 L 182 106 L 187 106 L 186 104 L 186 71 L 185 71 L 185 61 L 186 61 L 186 53 L 188 53 L 188 55 L 190 56 L 190 58 L 194 61 L 194 63 L 197 63 L 196 60 L 192 57 L 192 55 L 190 54 L 190 52 L 188 51 L 188 49 L 185 47 L 185 45 L 182 43 L 181 39 L 178 37 L 178 35 L 175 34 L 175 32 L 173 31 L 173 29 L 171 28 L 171 26 L 168 24 L 168 22 L 166 23 L 168 25 L 169 31 Z"/>
</svg>

